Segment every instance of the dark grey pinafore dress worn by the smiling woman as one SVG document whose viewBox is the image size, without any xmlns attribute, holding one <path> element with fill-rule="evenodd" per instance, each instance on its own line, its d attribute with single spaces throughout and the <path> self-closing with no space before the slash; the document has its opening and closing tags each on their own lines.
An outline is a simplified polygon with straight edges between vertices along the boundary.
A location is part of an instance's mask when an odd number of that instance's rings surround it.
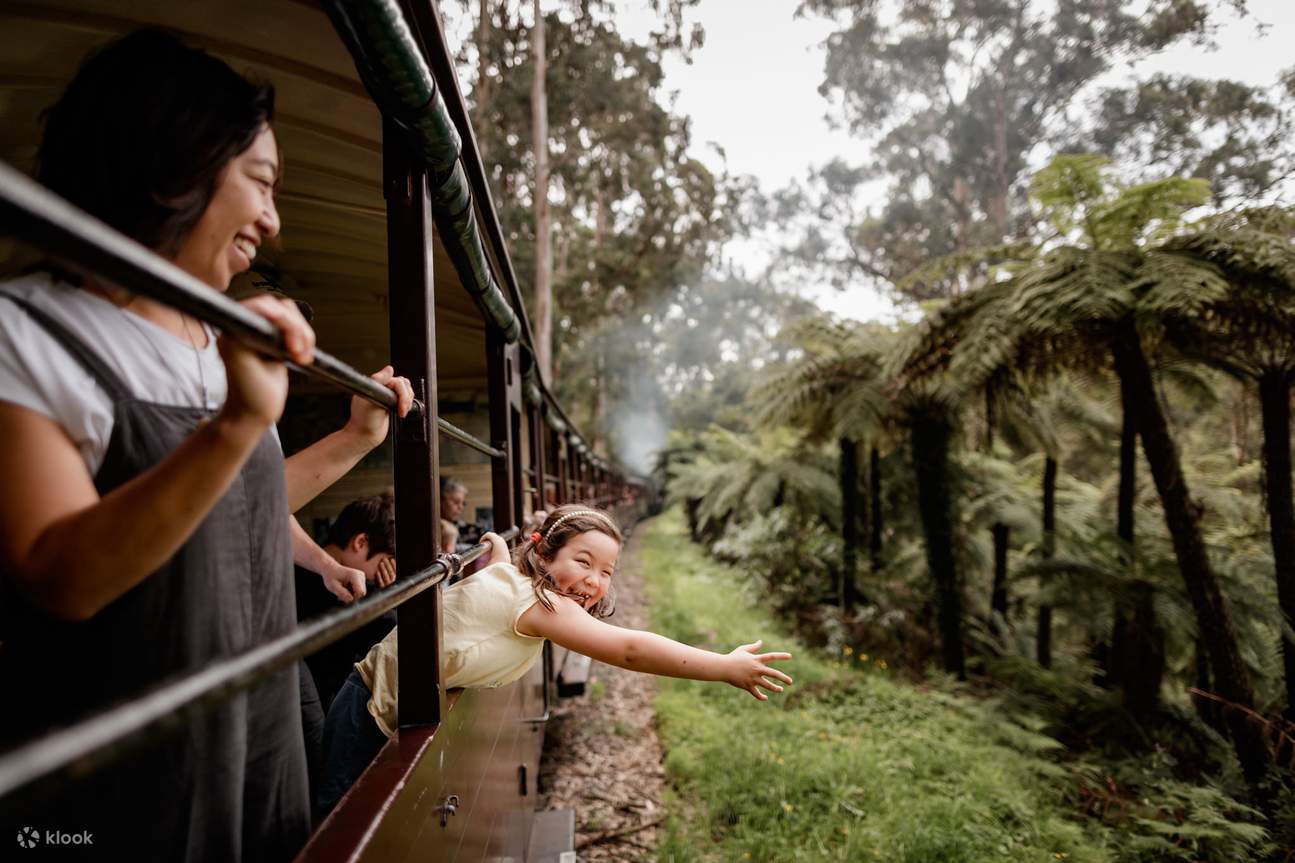
<svg viewBox="0 0 1295 863">
<path fill-rule="evenodd" d="M 111 395 L 101 495 L 162 461 L 211 412 L 154 404 L 45 312 L 14 297 Z M 290 631 L 284 456 L 271 433 L 162 569 L 84 622 L 5 599 L 5 746 Z M 123 860 L 287 860 L 310 836 L 293 663 L 25 815 L 41 834 L 91 831 Z M 74 849 L 82 850 L 82 849 Z"/>
</svg>

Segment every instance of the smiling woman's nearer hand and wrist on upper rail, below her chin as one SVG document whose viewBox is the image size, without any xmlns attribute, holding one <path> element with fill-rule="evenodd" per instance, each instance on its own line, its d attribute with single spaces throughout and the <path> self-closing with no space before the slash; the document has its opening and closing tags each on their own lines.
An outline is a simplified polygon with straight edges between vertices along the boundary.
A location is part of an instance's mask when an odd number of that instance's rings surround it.
<svg viewBox="0 0 1295 863">
<path fill-rule="evenodd" d="M 315 330 L 295 303 L 262 294 L 243 301 L 243 306 L 278 328 L 294 363 L 308 365 L 315 359 Z M 221 337 L 218 345 L 229 386 L 221 416 L 237 425 L 273 425 L 284 413 L 287 368 L 232 338 Z"/>
</svg>

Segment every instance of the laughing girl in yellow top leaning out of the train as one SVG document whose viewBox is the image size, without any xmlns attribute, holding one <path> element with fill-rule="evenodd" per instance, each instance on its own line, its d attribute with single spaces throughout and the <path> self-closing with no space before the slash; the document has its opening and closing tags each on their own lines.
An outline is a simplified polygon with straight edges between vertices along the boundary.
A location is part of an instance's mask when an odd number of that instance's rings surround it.
<svg viewBox="0 0 1295 863">
<path fill-rule="evenodd" d="M 760 653 L 760 641 L 712 653 L 662 635 L 603 623 L 614 606 L 613 574 L 623 536 L 615 520 L 580 504 L 558 507 L 517 547 L 486 534 L 491 562 L 445 588 L 445 688 L 492 688 L 539 662 L 544 641 L 631 671 L 715 680 L 782 692 L 791 678 L 769 663 L 790 653 Z M 772 678 L 772 679 L 771 679 Z M 324 727 L 324 783 L 317 801 L 330 810 L 396 728 L 396 630 L 374 645 L 329 708 Z"/>
</svg>

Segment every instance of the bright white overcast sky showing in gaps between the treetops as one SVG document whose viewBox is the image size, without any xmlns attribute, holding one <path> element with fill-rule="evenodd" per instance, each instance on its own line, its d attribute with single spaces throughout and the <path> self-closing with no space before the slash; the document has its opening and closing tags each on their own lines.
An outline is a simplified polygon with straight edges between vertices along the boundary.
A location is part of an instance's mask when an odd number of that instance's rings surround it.
<svg viewBox="0 0 1295 863">
<path fill-rule="evenodd" d="M 824 39 L 831 31 L 821 18 L 798 18 L 799 0 L 701 0 L 689 21 L 706 30 L 706 44 L 692 63 L 666 62 L 666 88 L 676 109 L 692 118 L 693 149 L 716 167 L 723 148 L 728 170 L 755 176 L 765 192 L 805 176 L 809 166 L 842 155 L 866 158 L 866 149 L 830 128 L 822 82 Z M 1190 73 L 1272 83 L 1295 65 L 1295 0 L 1250 0 L 1248 19 L 1230 19 L 1206 53 L 1178 45 L 1136 69 L 1112 70 L 1114 79 L 1153 71 Z M 651 26 L 646 4 L 624 0 L 618 29 L 641 38 Z M 1265 29 L 1260 23 L 1267 25 Z M 756 263 L 760 249 L 730 245 L 726 254 Z M 821 306 L 860 319 L 892 316 L 890 303 L 870 292 L 815 292 Z"/>
</svg>

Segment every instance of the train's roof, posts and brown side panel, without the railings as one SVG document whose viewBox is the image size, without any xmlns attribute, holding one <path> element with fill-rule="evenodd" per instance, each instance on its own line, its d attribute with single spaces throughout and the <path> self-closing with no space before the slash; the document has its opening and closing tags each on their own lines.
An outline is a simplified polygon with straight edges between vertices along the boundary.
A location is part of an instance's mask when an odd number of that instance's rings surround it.
<svg viewBox="0 0 1295 863">
<path fill-rule="evenodd" d="M 535 371 L 431 3 L 48 0 L 0 3 L 0 158 L 21 170 L 32 167 L 40 111 L 79 62 L 140 26 L 175 30 L 276 86 L 281 242 L 234 290 L 306 303 L 322 347 L 365 371 L 390 359 L 427 406 L 298 513 L 308 530 L 394 486 L 404 579 L 436 560 L 443 476 L 469 486 L 469 517 L 500 531 L 571 500 L 631 517 L 629 486 L 589 451 Z M 400 102 L 411 83 L 433 98 Z M 0 244 L 9 267 L 28 254 Z M 337 428 L 348 400 L 294 378 L 285 450 Z M 439 420 L 486 446 L 443 438 Z M 546 654 L 512 685 L 445 693 L 439 597 L 434 587 L 399 606 L 401 728 L 300 859 L 526 859 L 554 663 Z"/>
</svg>

